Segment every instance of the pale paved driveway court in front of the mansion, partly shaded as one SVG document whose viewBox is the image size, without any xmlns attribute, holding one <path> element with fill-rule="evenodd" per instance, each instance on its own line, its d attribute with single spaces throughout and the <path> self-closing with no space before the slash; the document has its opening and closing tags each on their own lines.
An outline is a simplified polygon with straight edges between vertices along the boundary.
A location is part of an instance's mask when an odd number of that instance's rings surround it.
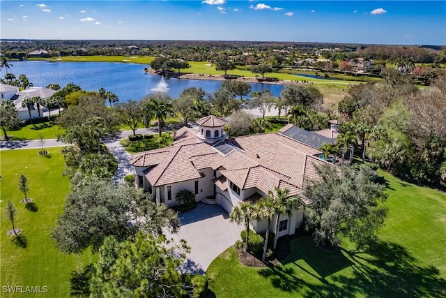
<svg viewBox="0 0 446 298">
<path fill-rule="evenodd" d="M 203 274 L 217 255 L 240 239 L 242 225 L 229 222 L 229 214 L 217 204 L 197 203 L 194 209 L 180 214 L 181 228 L 170 235 L 185 239 L 191 247 L 182 272 Z"/>
</svg>

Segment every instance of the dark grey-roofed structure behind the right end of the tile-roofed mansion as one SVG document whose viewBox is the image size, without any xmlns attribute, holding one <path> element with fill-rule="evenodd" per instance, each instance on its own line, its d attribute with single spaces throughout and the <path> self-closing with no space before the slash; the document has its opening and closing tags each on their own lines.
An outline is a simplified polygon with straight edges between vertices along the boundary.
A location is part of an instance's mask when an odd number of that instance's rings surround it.
<svg viewBox="0 0 446 298">
<path fill-rule="evenodd" d="M 293 124 L 287 124 L 279 130 L 279 133 L 287 135 L 294 140 L 303 142 L 314 149 L 323 147 L 323 144 L 335 144 L 337 140 L 337 135 L 339 133 L 339 125 L 341 124 L 337 120 L 330 120 L 330 128 L 322 129 L 321 131 L 305 131 L 302 128 L 293 126 Z M 344 153 L 344 147 L 339 146 L 339 156 Z M 348 146 L 349 162 L 353 161 L 354 147 L 353 145 Z M 336 164 L 338 162 L 338 154 L 331 154 L 329 161 Z M 323 155 L 320 158 L 324 158 Z"/>
</svg>

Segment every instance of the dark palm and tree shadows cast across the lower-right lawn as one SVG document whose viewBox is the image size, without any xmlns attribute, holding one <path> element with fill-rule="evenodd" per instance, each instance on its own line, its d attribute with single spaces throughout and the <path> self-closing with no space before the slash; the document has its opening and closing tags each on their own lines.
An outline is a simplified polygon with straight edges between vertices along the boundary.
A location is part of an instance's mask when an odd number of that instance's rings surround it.
<svg viewBox="0 0 446 298">
<path fill-rule="evenodd" d="M 440 271 L 433 266 L 420 266 L 406 248 L 398 244 L 380 241 L 364 252 L 323 251 L 309 247 L 307 239 L 293 244 L 300 247 L 295 247 L 284 266 L 259 272 L 270 278 L 275 288 L 286 292 L 306 287 L 309 290 L 305 297 L 446 297 L 446 280 L 440 276 Z M 316 274 L 298 265 L 298 260 L 305 260 Z M 291 262 L 297 268 L 290 266 Z M 330 276 L 346 267 L 352 269 L 349 276 Z M 295 270 L 305 271 L 322 284 L 310 284 L 297 278 Z"/>
</svg>

